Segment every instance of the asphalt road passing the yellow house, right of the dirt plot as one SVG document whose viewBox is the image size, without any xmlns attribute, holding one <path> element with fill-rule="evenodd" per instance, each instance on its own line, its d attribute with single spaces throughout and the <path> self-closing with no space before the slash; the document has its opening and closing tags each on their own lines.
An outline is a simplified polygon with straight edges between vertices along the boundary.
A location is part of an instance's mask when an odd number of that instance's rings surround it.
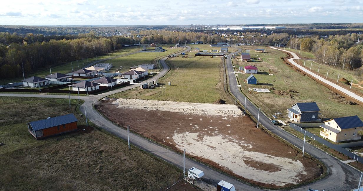
<svg viewBox="0 0 363 191">
<path fill-rule="evenodd" d="M 229 59 L 226 59 L 225 61 L 227 65 L 226 67 L 228 72 L 230 90 L 232 93 L 235 94 L 237 89 L 237 99 L 238 101 L 240 101 L 240 103 L 242 103 L 242 105 L 245 105 L 245 96 L 241 94 L 241 92 L 239 91 L 239 87 L 237 86 L 237 78 L 236 74 L 233 73 L 234 70 L 232 62 Z M 246 100 L 246 109 L 257 119 L 258 108 L 254 106 L 250 101 L 248 101 L 248 99 Z M 303 140 L 281 129 L 280 126 L 272 125 L 271 119 L 262 112 L 260 112 L 259 122 L 272 133 L 285 139 L 287 142 L 293 144 L 299 149 L 302 149 Z M 329 175 L 326 178 L 319 180 L 315 183 L 293 189 L 294 191 L 306 191 L 307 187 L 311 187 L 315 190 L 321 191 L 342 191 L 358 187 L 361 173 L 355 168 L 352 168 L 351 166 L 340 162 L 340 160 L 332 157 L 331 155 L 310 145 L 307 142 L 305 144 L 305 152 L 325 163 L 329 167 Z"/>
</svg>

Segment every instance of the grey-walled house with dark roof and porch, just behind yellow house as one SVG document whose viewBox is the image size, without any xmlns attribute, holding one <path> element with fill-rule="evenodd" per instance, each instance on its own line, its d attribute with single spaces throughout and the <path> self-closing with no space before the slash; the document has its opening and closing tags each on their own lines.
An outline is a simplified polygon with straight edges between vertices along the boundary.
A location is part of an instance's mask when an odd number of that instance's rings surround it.
<svg viewBox="0 0 363 191">
<path fill-rule="evenodd" d="M 295 122 L 319 122 L 319 107 L 315 102 L 295 103 L 287 109 L 287 117 Z"/>
</svg>

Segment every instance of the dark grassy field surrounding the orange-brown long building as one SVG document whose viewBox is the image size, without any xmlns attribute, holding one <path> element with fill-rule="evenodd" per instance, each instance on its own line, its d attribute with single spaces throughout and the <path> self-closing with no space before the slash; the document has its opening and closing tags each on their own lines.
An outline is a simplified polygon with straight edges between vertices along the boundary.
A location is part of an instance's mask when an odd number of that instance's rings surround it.
<svg viewBox="0 0 363 191">
<path fill-rule="evenodd" d="M 158 190 L 181 170 L 85 126 L 68 99 L 0 97 L 0 190 Z M 78 131 L 36 140 L 25 123 L 73 113 Z M 82 131 L 86 129 L 86 131 Z"/>
</svg>

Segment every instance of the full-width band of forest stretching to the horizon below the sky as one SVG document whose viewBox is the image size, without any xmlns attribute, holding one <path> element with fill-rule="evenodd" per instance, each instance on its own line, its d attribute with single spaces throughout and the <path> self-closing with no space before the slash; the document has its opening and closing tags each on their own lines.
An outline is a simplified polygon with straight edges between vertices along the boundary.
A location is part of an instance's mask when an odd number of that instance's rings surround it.
<svg viewBox="0 0 363 191">
<path fill-rule="evenodd" d="M 294 29 L 206 30 L 203 26 L 3 26 L 0 78 L 20 77 L 45 66 L 95 57 L 123 44 L 176 44 L 203 41 L 287 45 L 313 53 L 321 63 L 362 75 L 362 24 L 293 24 Z M 356 29 L 315 29 L 317 27 Z M 299 29 L 313 27 L 314 29 Z M 360 28 L 360 29 L 359 29 Z"/>
</svg>

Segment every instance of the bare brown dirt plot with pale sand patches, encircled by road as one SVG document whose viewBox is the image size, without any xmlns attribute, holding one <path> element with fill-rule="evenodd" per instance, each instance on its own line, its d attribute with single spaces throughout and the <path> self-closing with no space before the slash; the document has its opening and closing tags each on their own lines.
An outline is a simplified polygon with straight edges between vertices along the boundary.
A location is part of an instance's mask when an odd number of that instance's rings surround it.
<svg viewBox="0 0 363 191">
<path fill-rule="evenodd" d="M 155 102 L 148 105 L 151 102 L 147 100 L 140 101 L 142 107 L 138 109 L 120 107 L 119 103 L 125 102 L 103 100 L 95 107 L 121 126 L 130 125 L 131 130 L 180 152 L 187 149 L 189 156 L 258 186 L 291 186 L 322 173 L 316 162 L 302 158 L 294 148 L 257 129 L 249 117 L 156 110 Z"/>
</svg>

